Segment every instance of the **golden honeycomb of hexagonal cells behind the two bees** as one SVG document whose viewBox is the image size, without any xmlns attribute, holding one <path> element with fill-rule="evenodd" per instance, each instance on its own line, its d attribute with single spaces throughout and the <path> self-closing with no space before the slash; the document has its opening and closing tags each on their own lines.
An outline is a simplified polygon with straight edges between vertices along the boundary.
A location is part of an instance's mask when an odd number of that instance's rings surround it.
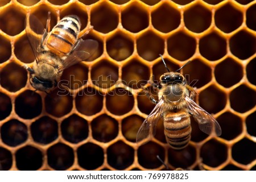
<svg viewBox="0 0 256 182">
<path fill-rule="evenodd" d="M 76 14 L 94 29 L 96 53 L 64 71 L 64 88 L 36 91 L 23 65 L 34 55 L 24 20 L 46 25 Z M 0 169 L 2 170 L 255 170 L 256 1 L 2 0 L 0 1 Z M 136 134 L 153 104 L 139 89 L 181 70 L 196 102 L 217 119 L 222 135 L 199 130 L 180 151 L 159 122 L 154 139 Z M 198 80 L 198 81 L 196 81 Z M 61 93 L 61 94 L 59 94 Z M 159 156 L 164 164 L 156 158 Z"/>
</svg>

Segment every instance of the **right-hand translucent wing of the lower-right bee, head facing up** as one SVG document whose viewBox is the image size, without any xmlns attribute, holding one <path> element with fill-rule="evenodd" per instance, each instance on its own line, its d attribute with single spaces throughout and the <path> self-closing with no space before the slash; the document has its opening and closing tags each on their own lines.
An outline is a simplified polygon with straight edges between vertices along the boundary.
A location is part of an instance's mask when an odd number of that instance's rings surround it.
<svg viewBox="0 0 256 182">
<path fill-rule="evenodd" d="M 187 102 L 187 109 L 189 110 L 189 113 L 191 113 L 199 123 L 199 129 L 201 131 L 208 135 L 210 135 L 212 131 L 214 131 L 217 136 L 221 135 L 221 127 L 212 115 L 197 105 L 196 102 L 188 96 L 185 96 L 185 101 Z"/>
</svg>

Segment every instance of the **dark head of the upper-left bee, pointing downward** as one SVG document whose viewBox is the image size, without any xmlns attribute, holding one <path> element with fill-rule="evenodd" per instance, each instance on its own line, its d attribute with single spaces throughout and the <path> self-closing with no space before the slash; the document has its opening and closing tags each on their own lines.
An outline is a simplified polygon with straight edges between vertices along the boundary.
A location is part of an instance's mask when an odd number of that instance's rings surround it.
<svg viewBox="0 0 256 182">
<path fill-rule="evenodd" d="M 42 80 L 36 76 L 31 76 L 30 83 L 36 90 L 41 90 L 41 91 L 51 90 L 55 88 L 55 86 L 57 86 L 56 80 L 54 81 Z"/>
</svg>

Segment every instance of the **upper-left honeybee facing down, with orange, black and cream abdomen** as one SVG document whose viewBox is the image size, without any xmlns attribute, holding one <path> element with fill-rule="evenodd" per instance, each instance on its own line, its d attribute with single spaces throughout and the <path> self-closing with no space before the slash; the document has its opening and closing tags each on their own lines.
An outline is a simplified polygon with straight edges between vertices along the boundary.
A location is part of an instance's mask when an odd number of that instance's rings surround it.
<svg viewBox="0 0 256 182">
<path fill-rule="evenodd" d="M 30 72 L 31 85 L 44 92 L 57 86 L 64 69 L 88 59 L 98 47 L 96 40 L 82 40 L 79 37 L 81 23 L 78 16 L 65 16 L 52 31 L 50 21 L 51 16 L 48 13 L 45 29 L 36 16 L 26 16 L 26 33 L 35 61 L 32 68 L 25 68 Z M 85 34 L 90 29 L 92 27 Z"/>
</svg>

